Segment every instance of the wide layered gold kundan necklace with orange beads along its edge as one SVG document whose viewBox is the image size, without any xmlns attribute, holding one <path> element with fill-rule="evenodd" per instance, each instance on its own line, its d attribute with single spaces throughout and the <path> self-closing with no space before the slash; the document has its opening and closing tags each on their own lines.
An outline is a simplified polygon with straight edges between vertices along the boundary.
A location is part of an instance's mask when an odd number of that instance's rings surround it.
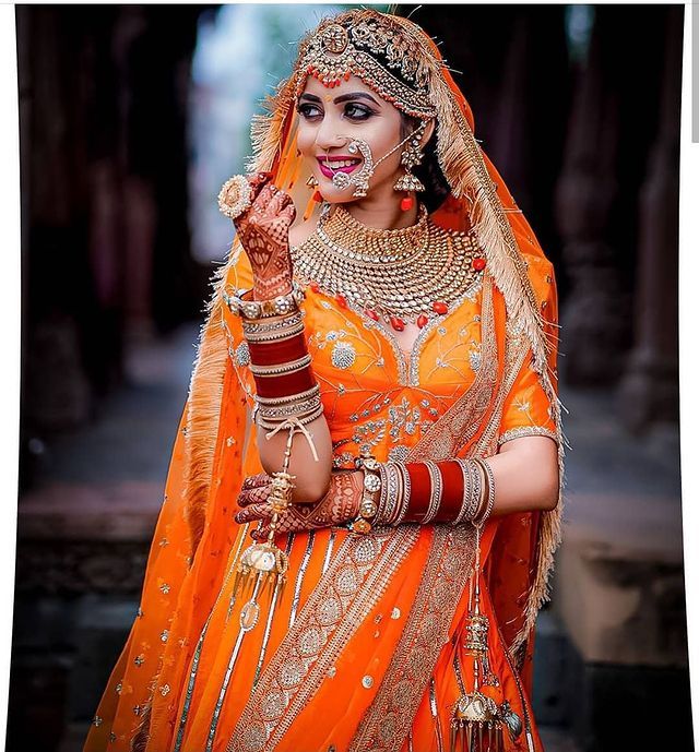
<svg viewBox="0 0 699 752">
<path fill-rule="evenodd" d="M 479 282 L 485 256 L 472 232 L 434 224 L 424 205 L 415 225 L 379 229 L 357 222 L 342 205 L 321 211 L 316 230 L 292 247 L 294 272 L 311 289 L 334 296 L 402 331 L 443 315 Z"/>
</svg>

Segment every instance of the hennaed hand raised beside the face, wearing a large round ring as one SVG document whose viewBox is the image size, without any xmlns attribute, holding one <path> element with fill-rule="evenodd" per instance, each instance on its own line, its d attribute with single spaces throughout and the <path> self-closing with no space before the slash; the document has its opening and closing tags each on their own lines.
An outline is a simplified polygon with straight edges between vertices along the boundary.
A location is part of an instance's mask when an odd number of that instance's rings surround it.
<svg viewBox="0 0 699 752">
<path fill-rule="evenodd" d="M 291 196 L 280 191 L 270 177 L 269 172 L 248 177 L 252 203 L 234 219 L 252 266 L 256 300 L 269 300 L 292 289 L 288 228 L 296 218 L 296 208 Z"/>
</svg>

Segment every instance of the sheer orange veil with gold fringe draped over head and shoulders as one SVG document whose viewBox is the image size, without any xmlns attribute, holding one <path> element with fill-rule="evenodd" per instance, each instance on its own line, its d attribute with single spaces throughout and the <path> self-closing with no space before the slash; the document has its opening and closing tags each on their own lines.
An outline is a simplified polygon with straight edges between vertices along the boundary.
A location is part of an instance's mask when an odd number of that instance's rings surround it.
<svg viewBox="0 0 699 752">
<path fill-rule="evenodd" d="M 374 10 L 354 13 L 386 17 Z M 471 108 L 443 64 L 438 47 L 411 21 L 390 17 L 414 38 L 419 55 L 428 60 L 430 96 L 438 112 L 437 154 L 451 188 L 451 194 L 431 218 L 448 228 L 475 228 L 485 249 L 487 267 L 501 294 L 502 305 L 495 307 L 498 341 L 506 345 L 512 331 L 523 334 L 532 370 L 548 397 L 549 417 L 558 439 L 557 509 L 526 515 L 531 523 L 528 525 L 521 524 L 522 515 L 517 520 L 502 518 L 489 528 L 489 534 L 486 532 L 482 541 L 482 547 L 489 551 L 486 576 L 505 583 L 491 588 L 493 608 L 503 642 L 522 669 L 525 658 L 531 657 L 536 613 L 547 598 L 562 510 L 565 441 L 555 370 L 557 310 L 553 270 L 505 181 L 476 142 Z M 309 199 L 309 172 L 296 153 L 298 116 L 293 99 L 299 75 L 295 71 L 283 82 L 266 103 L 269 115 L 257 118 L 256 156 L 250 166 L 256 171 L 271 171 L 274 183 L 287 191 L 296 206 L 305 208 L 305 216 L 309 216 L 318 211 L 318 205 Z M 366 83 L 370 85 L 370 81 Z M 253 428 L 246 414 L 246 393 L 229 366 L 229 317 L 222 298 L 224 286 L 235 286 L 238 280 L 235 266 L 239 258 L 240 248 L 234 243 L 229 259 L 215 275 L 147 561 L 141 608 L 99 704 L 84 752 L 166 752 L 165 745 L 157 749 L 149 740 L 154 728 L 161 729 L 162 740 L 168 735 L 170 740 L 177 738 L 177 719 L 190 700 L 181 688 L 187 688 L 188 678 L 196 670 L 198 643 L 203 640 L 216 599 L 230 576 L 229 564 L 246 538 L 247 526 L 241 529 L 233 522 L 236 498 L 244 473 L 256 469 L 256 465 L 257 472 L 262 468 L 253 456 L 257 453 L 251 439 Z M 502 368 L 500 363 L 500 375 Z M 474 446 L 478 440 L 485 442 L 483 435 L 475 437 L 469 445 Z M 488 441 L 493 450 L 491 438 Z M 462 449 L 460 443 L 459 451 Z M 424 446 L 417 446 L 412 454 L 414 458 L 424 456 Z M 472 539 L 463 535 L 461 542 L 466 551 Z M 246 542 L 250 542 L 249 536 Z M 411 556 L 428 561 L 428 554 L 429 542 L 420 536 Z M 511 565 L 513 559 L 526 565 L 516 571 Z M 387 582 L 390 588 L 390 578 Z M 415 588 L 418 585 L 416 582 Z M 457 601 L 461 602 L 461 594 L 457 588 L 452 595 L 453 612 Z M 528 671 L 523 678 L 529 684 Z M 356 739 L 353 743 L 352 749 L 365 749 Z"/>
</svg>

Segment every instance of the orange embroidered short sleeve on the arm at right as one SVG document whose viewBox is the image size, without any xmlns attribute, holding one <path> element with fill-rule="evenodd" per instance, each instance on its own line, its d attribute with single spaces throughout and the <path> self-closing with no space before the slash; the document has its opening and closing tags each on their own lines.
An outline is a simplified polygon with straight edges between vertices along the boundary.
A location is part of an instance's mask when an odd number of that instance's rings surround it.
<svg viewBox="0 0 699 752">
<path fill-rule="evenodd" d="M 547 260 L 542 259 L 538 263 L 541 268 L 537 268 L 537 273 L 534 275 L 537 282 L 534 285 L 534 291 L 544 317 L 545 335 L 553 345 L 548 357 L 548 377 L 554 391 L 553 398 L 557 398 L 558 306 L 556 279 L 553 266 Z M 559 442 L 552 398 L 531 362 L 532 350 L 530 349 L 502 407 L 498 446 L 512 439 L 526 435 L 545 435 L 550 437 L 557 443 Z"/>
</svg>

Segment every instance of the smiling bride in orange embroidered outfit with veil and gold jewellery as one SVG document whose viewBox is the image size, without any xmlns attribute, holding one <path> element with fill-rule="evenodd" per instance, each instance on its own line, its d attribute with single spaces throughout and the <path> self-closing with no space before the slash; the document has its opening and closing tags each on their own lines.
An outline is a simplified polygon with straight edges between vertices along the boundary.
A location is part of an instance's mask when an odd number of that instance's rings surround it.
<svg viewBox="0 0 699 752">
<path fill-rule="evenodd" d="M 552 264 L 413 22 L 323 20 L 266 104 L 84 752 L 538 752 Z"/>
</svg>

